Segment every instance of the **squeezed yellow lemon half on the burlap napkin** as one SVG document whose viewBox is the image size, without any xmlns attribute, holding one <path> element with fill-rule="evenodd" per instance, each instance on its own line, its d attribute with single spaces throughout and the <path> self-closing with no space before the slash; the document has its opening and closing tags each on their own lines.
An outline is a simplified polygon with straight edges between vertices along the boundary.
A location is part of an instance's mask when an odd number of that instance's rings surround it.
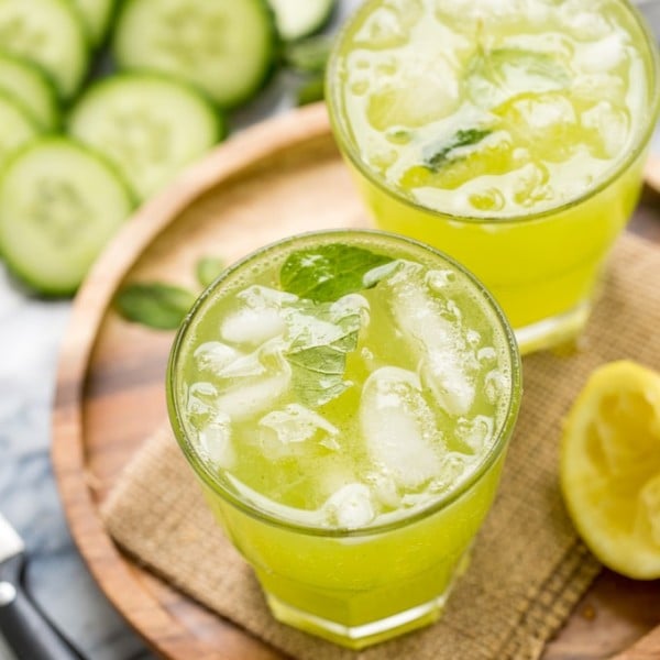
<svg viewBox="0 0 660 660">
<path fill-rule="evenodd" d="M 560 480 L 575 528 L 606 566 L 660 578 L 660 374 L 593 372 L 565 420 Z"/>
</svg>

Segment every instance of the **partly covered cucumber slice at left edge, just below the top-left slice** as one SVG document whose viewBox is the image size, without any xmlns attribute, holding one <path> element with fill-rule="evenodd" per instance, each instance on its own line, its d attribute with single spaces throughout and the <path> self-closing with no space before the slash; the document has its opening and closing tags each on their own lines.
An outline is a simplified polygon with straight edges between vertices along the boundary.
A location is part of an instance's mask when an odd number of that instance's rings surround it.
<svg viewBox="0 0 660 660">
<path fill-rule="evenodd" d="M 53 130 L 59 125 L 55 88 L 30 61 L 0 52 L 0 90 L 20 101 L 42 129 Z"/>
</svg>

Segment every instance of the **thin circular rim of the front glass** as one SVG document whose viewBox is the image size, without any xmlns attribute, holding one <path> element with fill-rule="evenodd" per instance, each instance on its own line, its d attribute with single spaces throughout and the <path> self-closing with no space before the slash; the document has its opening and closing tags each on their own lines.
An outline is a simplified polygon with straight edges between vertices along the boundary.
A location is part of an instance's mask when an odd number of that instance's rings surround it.
<svg viewBox="0 0 660 660">
<path fill-rule="evenodd" d="M 343 237 L 346 233 L 351 235 L 374 235 L 384 239 L 385 241 L 394 241 L 398 243 L 407 243 L 409 245 L 414 245 L 417 249 L 421 249 L 428 253 L 431 253 L 436 257 L 440 257 L 444 262 L 449 263 L 452 267 L 455 267 L 458 271 L 463 273 L 475 287 L 476 293 L 481 295 L 485 301 L 487 307 L 494 312 L 495 318 L 499 324 L 499 332 L 504 336 L 504 343 L 506 343 L 507 348 L 507 356 L 510 362 L 510 391 L 508 392 L 508 402 L 506 409 L 503 411 L 503 422 L 499 427 L 497 436 L 494 438 L 493 443 L 488 451 L 482 457 L 477 468 L 474 470 L 470 476 L 461 482 L 460 486 L 451 490 L 447 494 L 441 494 L 438 497 L 433 497 L 430 499 L 427 506 L 424 506 L 419 509 L 416 509 L 410 513 L 410 515 L 404 515 L 402 517 L 397 517 L 394 520 L 388 520 L 386 522 L 366 526 L 364 528 L 356 529 L 345 529 L 345 528 L 331 528 L 331 527 L 322 527 L 318 525 L 310 525 L 305 522 L 296 522 L 295 520 L 290 520 L 288 518 L 283 518 L 273 512 L 267 512 L 258 508 L 255 504 L 252 504 L 246 498 L 242 497 L 240 494 L 232 491 L 227 484 L 223 482 L 221 477 L 213 473 L 210 470 L 208 463 L 198 454 L 189 440 L 184 424 L 183 417 L 180 415 L 179 402 L 177 400 L 177 365 L 178 358 L 180 355 L 180 350 L 183 343 L 187 337 L 188 330 L 191 327 L 194 319 L 196 318 L 198 311 L 201 306 L 205 304 L 207 298 L 211 296 L 218 287 L 220 287 L 228 278 L 230 278 L 237 271 L 249 266 L 256 260 L 263 258 L 271 252 L 276 252 L 280 250 L 283 246 L 314 238 L 332 238 L 332 237 Z M 510 439 L 516 420 L 518 417 L 518 411 L 520 408 L 520 399 L 521 399 L 521 380 L 522 380 L 522 369 L 521 369 L 521 359 L 518 350 L 518 344 L 515 339 L 514 331 L 506 318 L 504 311 L 491 294 L 491 292 L 482 284 L 482 282 L 472 274 L 465 266 L 457 262 L 451 256 L 444 254 L 440 250 L 432 248 L 431 245 L 427 245 L 421 241 L 417 241 L 415 239 L 410 239 L 407 237 L 402 237 L 399 234 L 395 234 L 392 232 L 386 232 L 382 230 L 372 230 L 372 229 L 337 229 L 337 230 L 320 230 L 320 231 L 310 231 L 300 234 L 296 234 L 293 237 L 287 237 L 285 239 L 280 239 L 276 242 L 270 243 L 255 250 L 242 257 L 228 268 L 226 268 L 197 298 L 190 311 L 187 314 L 183 323 L 180 324 L 176 337 L 174 339 L 172 350 L 169 353 L 169 359 L 167 362 L 167 373 L 166 373 L 166 397 L 167 397 L 167 411 L 169 417 L 169 422 L 172 429 L 174 430 L 174 435 L 176 440 L 184 452 L 187 461 L 193 466 L 196 475 L 204 482 L 204 484 L 209 487 L 216 495 L 221 497 L 226 503 L 239 509 L 241 513 L 250 516 L 253 519 L 256 519 L 261 522 L 265 522 L 267 525 L 277 527 L 279 529 L 295 531 L 298 534 L 304 534 L 307 536 L 317 536 L 317 537 L 329 537 L 329 538 L 349 538 L 349 537 L 366 537 L 374 536 L 378 534 L 383 534 L 393 529 L 400 529 L 413 525 L 417 521 L 424 520 L 436 513 L 443 510 L 451 506 L 454 502 L 460 499 L 464 494 L 466 494 L 488 472 L 488 470 L 493 466 L 493 464 L 497 461 L 501 454 L 505 451 L 508 440 Z"/>
</svg>

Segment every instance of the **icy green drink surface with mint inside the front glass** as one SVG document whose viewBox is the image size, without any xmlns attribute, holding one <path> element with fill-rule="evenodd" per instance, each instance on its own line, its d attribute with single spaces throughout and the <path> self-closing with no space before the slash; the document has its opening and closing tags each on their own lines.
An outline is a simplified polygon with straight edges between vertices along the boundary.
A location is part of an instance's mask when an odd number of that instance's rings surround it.
<svg viewBox="0 0 660 660">
<path fill-rule="evenodd" d="M 307 290 L 292 254 L 318 282 L 362 268 L 362 285 L 290 293 L 292 279 Z M 173 394 L 191 451 L 234 497 L 284 522 L 362 529 L 451 495 L 496 451 L 518 397 L 512 341 L 453 262 L 326 234 L 223 276 L 180 339 Z"/>
</svg>

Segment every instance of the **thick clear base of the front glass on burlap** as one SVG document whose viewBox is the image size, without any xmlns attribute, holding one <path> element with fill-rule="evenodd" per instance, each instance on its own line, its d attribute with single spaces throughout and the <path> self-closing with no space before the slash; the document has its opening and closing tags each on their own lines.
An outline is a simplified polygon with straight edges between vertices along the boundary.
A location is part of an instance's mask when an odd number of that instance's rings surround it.
<svg viewBox="0 0 660 660">
<path fill-rule="evenodd" d="M 457 580 L 463 575 L 470 565 L 470 550 L 459 561 L 451 582 L 442 594 L 420 605 L 397 612 L 392 616 L 361 625 L 349 626 L 322 618 L 309 612 L 304 612 L 280 601 L 268 592 L 265 593 L 266 601 L 273 616 L 278 622 L 299 630 L 311 632 L 317 637 L 322 637 L 349 649 L 360 650 L 437 622 L 444 609 L 447 600 Z"/>
</svg>

